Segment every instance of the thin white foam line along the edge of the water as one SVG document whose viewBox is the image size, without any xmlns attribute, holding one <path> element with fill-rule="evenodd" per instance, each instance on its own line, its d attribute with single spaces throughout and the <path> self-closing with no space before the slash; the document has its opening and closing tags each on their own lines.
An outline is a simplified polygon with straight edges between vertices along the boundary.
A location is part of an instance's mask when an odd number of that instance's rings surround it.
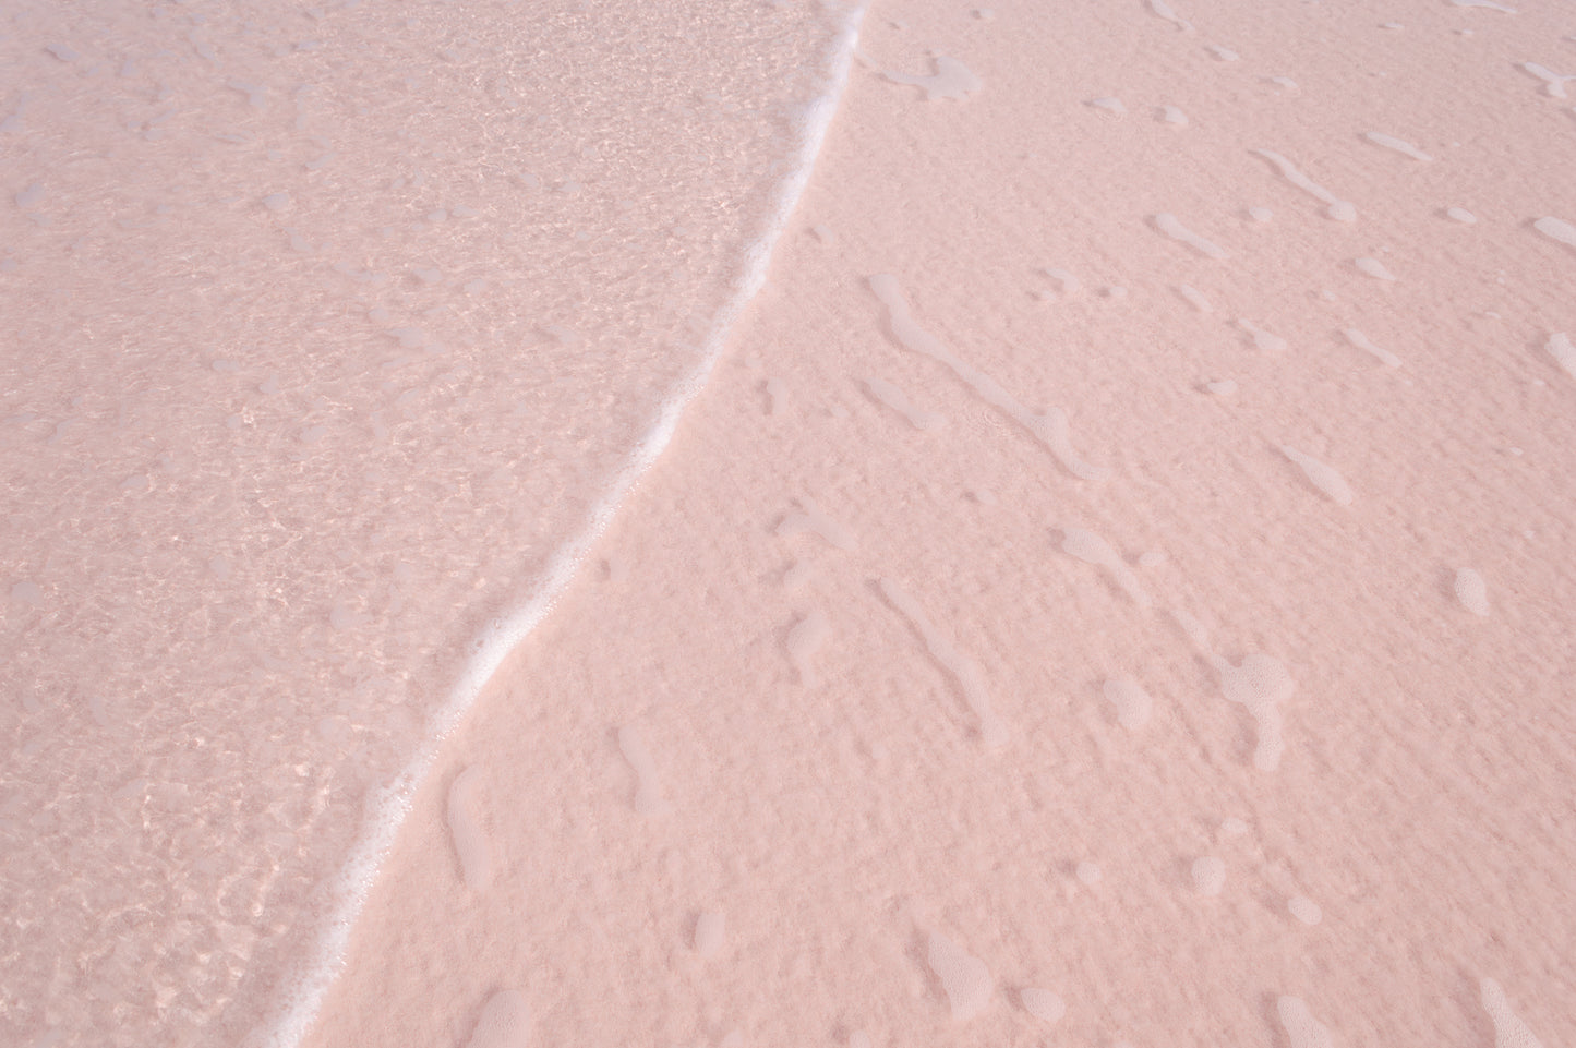
<svg viewBox="0 0 1576 1048">
<path fill-rule="evenodd" d="M 667 449 L 679 418 L 690 402 L 706 386 L 717 361 L 722 359 L 728 334 L 745 306 L 766 284 L 766 269 L 772 247 L 788 227 L 788 219 L 799 205 L 799 197 L 810 181 L 815 159 L 821 153 L 826 132 L 837 113 L 843 90 L 848 85 L 849 65 L 859 44 L 859 27 L 867 2 L 845 13 L 842 28 L 826 49 L 827 90 L 807 102 L 797 118 L 801 131 L 799 162 L 793 172 L 777 181 L 774 206 L 768 211 L 766 229 L 744 249 L 742 273 L 733 285 L 733 296 L 723 303 L 712 320 L 701 353 L 700 366 L 684 378 L 675 394 L 663 402 L 657 424 L 635 446 L 629 463 L 619 471 L 608 493 L 591 511 L 591 522 L 575 537 L 561 545 L 547 564 L 536 593 L 515 611 L 493 619 L 482 627 L 481 637 L 471 641 L 471 659 L 460 671 L 459 681 L 449 690 L 448 701 L 429 719 L 426 741 L 416 756 L 400 771 L 391 785 L 383 786 L 367 802 L 370 816 L 351 848 L 348 862 L 331 881 L 333 911 L 326 919 L 310 960 L 287 977 L 287 990 L 281 1002 L 271 1009 L 273 1018 L 254 1029 L 247 1045 L 257 1048 L 298 1048 L 310 1032 L 323 1007 L 323 998 L 345 964 L 350 931 L 361 917 L 367 895 L 377 879 L 383 860 L 394 846 L 394 838 L 405 816 L 411 812 L 416 791 L 438 763 L 443 742 L 460 725 L 471 706 L 481 697 L 498 667 L 552 611 L 558 597 L 569 586 L 591 547 L 613 522 L 629 493 Z"/>
</svg>

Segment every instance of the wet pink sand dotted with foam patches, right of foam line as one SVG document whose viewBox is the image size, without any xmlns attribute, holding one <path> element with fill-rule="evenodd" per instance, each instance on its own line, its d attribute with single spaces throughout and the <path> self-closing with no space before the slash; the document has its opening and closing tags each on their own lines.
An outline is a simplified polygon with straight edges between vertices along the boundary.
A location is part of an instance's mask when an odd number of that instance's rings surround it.
<svg viewBox="0 0 1576 1048">
<path fill-rule="evenodd" d="M 1576 5 L 859 46 L 306 1043 L 1576 1043 Z"/>
</svg>

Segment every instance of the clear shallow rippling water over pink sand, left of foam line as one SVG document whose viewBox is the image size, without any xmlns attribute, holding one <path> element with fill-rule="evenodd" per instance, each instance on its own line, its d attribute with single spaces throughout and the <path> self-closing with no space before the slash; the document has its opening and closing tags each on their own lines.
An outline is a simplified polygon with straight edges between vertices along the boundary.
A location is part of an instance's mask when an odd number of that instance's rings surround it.
<svg viewBox="0 0 1576 1048">
<path fill-rule="evenodd" d="M 758 279 L 845 22 L 13 6 L 3 1040 L 236 1043 L 331 960 Z"/>
</svg>

